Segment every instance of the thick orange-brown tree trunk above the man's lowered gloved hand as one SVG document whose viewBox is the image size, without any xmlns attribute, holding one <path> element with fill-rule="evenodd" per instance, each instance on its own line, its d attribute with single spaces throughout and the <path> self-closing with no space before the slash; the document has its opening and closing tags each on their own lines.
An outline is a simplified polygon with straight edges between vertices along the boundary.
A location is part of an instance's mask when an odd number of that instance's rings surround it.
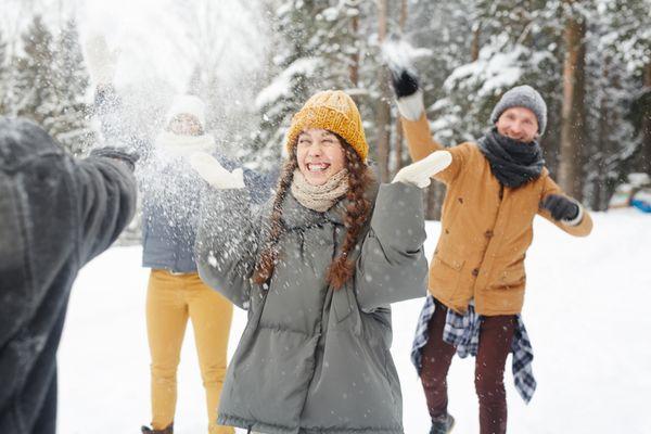
<svg viewBox="0 0 651 434">
<path fill-rule="evenodd" d="M 567 4 L 573 0 L 565 0 Z M 585 56 L 586 25 L 583 16 L 570 16 L 565 26 L 563 66 L 563 107 L 559 184 L 582 200 L 582 146 L 585 140 Z"/>
</svg>

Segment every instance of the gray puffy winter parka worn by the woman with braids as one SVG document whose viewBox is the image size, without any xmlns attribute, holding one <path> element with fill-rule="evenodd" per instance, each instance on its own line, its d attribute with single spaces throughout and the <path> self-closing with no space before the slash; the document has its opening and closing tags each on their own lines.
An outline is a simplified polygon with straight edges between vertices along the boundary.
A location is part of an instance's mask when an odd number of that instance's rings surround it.
<svg viewBox="0 0 651 434">
<path fill-rule="evenodd" d="M 374 210 L 350 254 L 355 276 L 339 291 L 326 276 L 345 238 L 347 200 L 317 213 L 288 193 L 267 290 L 250 278 L 272 200 L 259 213 L 264 219 L 251 219 L 245 199 L 209 193 L 197 234 L 200 276 L 248 309 L 220 424 L 269 434 L 403 433 L 388 306 L 425 295 L 422 194 L 404 183 L 367 193 Z"/>
</svg>

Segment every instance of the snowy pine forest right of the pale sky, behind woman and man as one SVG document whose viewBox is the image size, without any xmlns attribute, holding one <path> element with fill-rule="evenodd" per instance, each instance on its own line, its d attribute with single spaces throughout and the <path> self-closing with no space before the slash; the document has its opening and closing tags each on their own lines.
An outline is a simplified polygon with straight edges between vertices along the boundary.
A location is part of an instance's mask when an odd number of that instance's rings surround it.
<svg viewBox="0 0 651 434">
<path fill-rule="evenodd" d="M 409 42 L 432 131 L 480 138 L 495 103 L 528 84 L 547 101 L 547 165 L 604 209 L 630 171 L 651 174 L 651 0 L 268 0 L 267 84 L 256 152 L 278 153 L 290 115 L 318 89 L 350 92 L 382 180 L 409 163 L 381 55 Z M 444 194 L 430 188 L 429 215 Z"/>
</svg>

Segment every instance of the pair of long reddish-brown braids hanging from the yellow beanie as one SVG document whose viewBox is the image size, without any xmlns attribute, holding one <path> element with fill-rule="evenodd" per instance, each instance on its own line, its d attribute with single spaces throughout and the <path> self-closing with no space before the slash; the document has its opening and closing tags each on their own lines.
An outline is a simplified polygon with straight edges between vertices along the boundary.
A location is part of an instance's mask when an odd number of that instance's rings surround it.
<svg viewBox="0 0 651 434">
<path fill-rule="evenodd" d="M 346 238 L 341 254 L 333 259 L 328 270 L 328 282 L 335 290 L 339 290 L 355 272 L 355 263 L 348 259 L 348 255 L 357 244 L 359 233 L 361 232 L 371 209 L 371 203 L 365 196 L 365 191 L 372 181 L 372 175 L 355 150 L 346 143 L 342 137 L 336 133 L 334 135 L 340 139 L 344 148 L 349 186 L 346 193 L 346 199 L 349 201 L 349 204 L 346 206 L 346 215 L 344 216 Z M 298 166 L 295 149 L 295 146 L 292 149 L 278 182 L 278 190 L 276 199 L 273 200 L 273 210 L 270 217 L 270 231 L 267 245 L 259 256 L 254 272 L 253 281 L 257 284 L 264 284 L 271 278 L 273 269 L 276 268 L 276 261 L 278 260 L 277 243 L 282 234 L 282 224 L 280 221 L 282 216 L 282 203 L 292 184 L 294 170 Z"/>
</svg>

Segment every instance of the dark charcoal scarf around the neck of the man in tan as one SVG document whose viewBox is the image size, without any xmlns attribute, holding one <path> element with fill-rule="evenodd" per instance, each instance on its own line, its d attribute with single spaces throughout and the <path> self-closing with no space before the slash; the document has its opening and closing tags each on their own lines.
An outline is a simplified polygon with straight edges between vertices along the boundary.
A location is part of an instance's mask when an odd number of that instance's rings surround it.
<svg viewBox="0 0 651 434">
<path fill-rule="evenodd" d="M 493 128 L 478 140 L 480 150 L 490 164 L 490 171 L 505 187 L 515 189 L 540 176 L 545 159 L 537 141 L 523 143 Z"/>
</svg>

